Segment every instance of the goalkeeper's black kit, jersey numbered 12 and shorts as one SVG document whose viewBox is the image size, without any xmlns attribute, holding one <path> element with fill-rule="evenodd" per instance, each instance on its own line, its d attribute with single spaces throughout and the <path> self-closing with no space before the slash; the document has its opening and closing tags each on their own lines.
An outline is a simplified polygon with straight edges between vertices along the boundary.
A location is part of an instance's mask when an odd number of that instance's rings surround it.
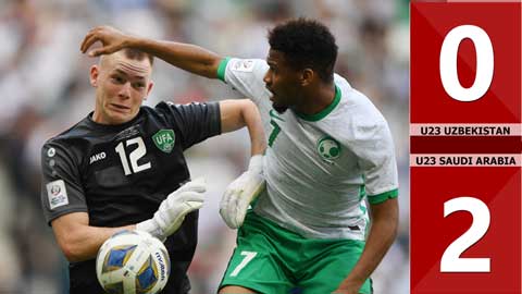
<svg viewBox="0 0 522 294">
<path fill-rule="evenodd" d="M 122 226 L 152 218 L 190 174 L 183 151 L 221 133 L 219 103 L 141 107 L 121 125 L 91 114 L 49 139 L 41 150 L 41 204 L 47 222 L 83 211 L 92 226 Z M 187 293 L 186 271 L 197 244 L 198 212 L 187 215 L 165 246 L 171 277 L 163 293 Z M 95 260 L 70 265 L 71 293 L 102 293 Z"/>
</svg>

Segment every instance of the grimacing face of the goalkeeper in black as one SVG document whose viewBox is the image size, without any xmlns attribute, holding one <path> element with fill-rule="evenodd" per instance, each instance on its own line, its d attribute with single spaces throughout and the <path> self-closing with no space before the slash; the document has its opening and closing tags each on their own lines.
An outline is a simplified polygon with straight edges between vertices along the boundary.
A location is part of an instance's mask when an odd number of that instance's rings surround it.
<svg viewBox="0 0 522 294">
<path fill-rule="evenodd" d="M 101 124 L 122 124 L 134 119 L 152 88 L 152 68 L 148 59 L 130 60 L 117 52 L 94 65 L 90 83 L 96 87 L 92 120 Z"/>
</svg>

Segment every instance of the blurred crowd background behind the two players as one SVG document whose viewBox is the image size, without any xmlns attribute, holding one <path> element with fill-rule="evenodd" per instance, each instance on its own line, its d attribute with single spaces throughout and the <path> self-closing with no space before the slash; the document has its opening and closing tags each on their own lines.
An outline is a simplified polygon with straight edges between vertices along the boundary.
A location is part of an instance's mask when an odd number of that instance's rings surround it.
<svg viewBox="0 0 522 294">
<path fill-rule="evenodd" d="M 219 54 L 265 58 L 275 23 L 314 17 L 331 27 L 336 72 L 365 93 L 394 135 L 400 177 L 397 242 L 373 274 L 375 293 L 409 285 L 408 0 L 0 0 L 0 293 L 67 292 L 66 261 L 40 209 L 40 147 L 94 109 L 89 66 L 79 52 L 94 26 L 206 47 Z M 157 61 L 146 105 L 238 97 L 222 82 Z M 247 132 L 187 151 L 192 177 L 206 176 L 208 201 L 190 267 L 194 294 L 215 293 L 235 245 L 219 217 L 226 185 L 246 168 Z"/>
</svg>

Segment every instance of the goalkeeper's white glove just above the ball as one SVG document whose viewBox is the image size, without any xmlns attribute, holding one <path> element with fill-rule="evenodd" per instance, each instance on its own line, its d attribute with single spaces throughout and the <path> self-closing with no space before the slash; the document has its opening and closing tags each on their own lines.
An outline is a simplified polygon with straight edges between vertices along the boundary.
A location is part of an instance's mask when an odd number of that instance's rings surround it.
<svg viewBox="0 0 522 294">
<path fill-rule="evenodd" d="M 207 184 L 202 177 L 186 183 L 169 194 L 151 219 L 137 223 L 136 230 L 145 231 L 164 242 L 179 229 L 187 213 L 203 206 L 206 191 Z"/>
</svg>

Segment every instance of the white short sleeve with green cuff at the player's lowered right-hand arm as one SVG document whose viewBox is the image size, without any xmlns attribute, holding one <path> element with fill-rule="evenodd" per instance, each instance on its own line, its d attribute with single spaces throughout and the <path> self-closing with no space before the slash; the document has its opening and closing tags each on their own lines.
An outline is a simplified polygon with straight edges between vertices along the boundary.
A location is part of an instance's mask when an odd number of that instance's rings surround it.
<svg viewBox="0 0 522 294">
<path fill-rule="evenodd" d="M 358 164 L 362 169 L 370 204 L 380 204 L 398 196 L 397 162 L 391 133 L 385 121 L 361 125 L 353 143 Z"/>
</svg>

